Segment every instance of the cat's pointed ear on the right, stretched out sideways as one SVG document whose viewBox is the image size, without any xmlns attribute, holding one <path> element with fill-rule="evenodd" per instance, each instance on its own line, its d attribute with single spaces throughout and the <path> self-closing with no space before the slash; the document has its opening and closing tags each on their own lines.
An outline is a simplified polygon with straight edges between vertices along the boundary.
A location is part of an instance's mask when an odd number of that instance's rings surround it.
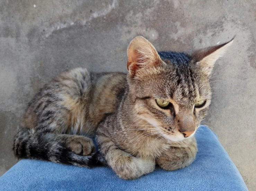
<svg viewBox="0 0 256 191">
<path fill-rule="evenodd" d="M 191 53 L 192 62 L 199 64 L 202 71 L 210 76 L 214 63 L 223 56 L 227 48 L 232 44 L 234 38 L 235 37 L 233 37 L 230 41 L 218 46 L 193 51 Z"/>
</svg>

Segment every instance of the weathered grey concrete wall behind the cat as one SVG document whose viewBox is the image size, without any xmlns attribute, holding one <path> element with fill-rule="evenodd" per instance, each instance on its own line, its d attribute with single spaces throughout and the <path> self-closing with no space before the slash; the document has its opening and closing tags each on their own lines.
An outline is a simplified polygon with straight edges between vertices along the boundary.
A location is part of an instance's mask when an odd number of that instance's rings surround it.
<svg viewBox="0 0 256 191">
<path fill-rule="evenodd" d="M 236 34 L 215 65 L 205 122 L 253 190 L 255 10 L 255 1 L 0 0 L 0 175 L 17 162 L 12 137 L 26 104 L 61 71 L 125 72 L 126 48 L 137 31 L 159 51 L 213 46 Z"/>
</svg>

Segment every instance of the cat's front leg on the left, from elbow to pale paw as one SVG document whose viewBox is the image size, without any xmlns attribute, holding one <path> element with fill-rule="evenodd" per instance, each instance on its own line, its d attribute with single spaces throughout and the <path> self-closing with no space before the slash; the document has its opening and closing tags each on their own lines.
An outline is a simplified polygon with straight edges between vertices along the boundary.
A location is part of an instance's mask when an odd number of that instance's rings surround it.
<svg viewBox="0 0 256 191">
<path fill-rule="evenodd" d="M 155 161 L 134 157 L 119 149 L 114 142 L 105 136 L 97 137 L 100 152 L 108 165 L 122 179 L 135 179 L 155 169 Z"/>
</svg>

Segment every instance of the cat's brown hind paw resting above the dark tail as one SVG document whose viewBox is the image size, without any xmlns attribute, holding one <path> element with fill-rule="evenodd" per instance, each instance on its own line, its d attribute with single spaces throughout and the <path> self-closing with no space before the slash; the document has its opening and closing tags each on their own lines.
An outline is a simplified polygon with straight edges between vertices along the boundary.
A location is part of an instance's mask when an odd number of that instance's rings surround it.
<svg viewBox="0 0 256 191">
<path fill-rule="evenodd" d="M 83 136 L 69 138 L 67 140 L 67 147 L 78 155 L 89 155 L 95 151 L 92 139 Z"/>
</svg>

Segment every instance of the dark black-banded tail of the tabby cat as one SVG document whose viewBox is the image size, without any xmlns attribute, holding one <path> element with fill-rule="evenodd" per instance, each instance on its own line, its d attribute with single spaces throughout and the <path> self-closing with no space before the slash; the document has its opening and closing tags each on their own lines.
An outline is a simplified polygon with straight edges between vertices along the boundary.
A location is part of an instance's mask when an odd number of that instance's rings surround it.
<svg viewBox="0 0 256 191">
<path fill-rule="evenodd" d="M 65 148 L 62 143 L 49 139 L 49 135 L 32 134 L 25 128 L 19 128 L 14 139 L 13 150 L 18 159 L 39 159 L 87 168 L 107 166 L 99 151 L 87 156 L 78 155 Z"/>
</svg>

